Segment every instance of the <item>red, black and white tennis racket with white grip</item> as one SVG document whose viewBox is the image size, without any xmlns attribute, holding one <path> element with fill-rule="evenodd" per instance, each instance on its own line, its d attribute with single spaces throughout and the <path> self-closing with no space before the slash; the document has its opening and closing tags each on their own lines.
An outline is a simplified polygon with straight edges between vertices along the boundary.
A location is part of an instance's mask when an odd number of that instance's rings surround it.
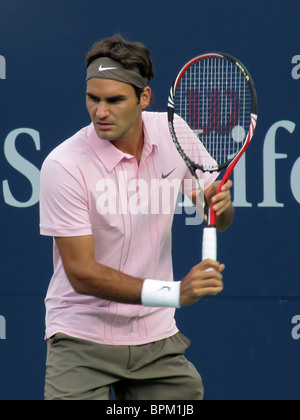
<svg viewBox="0 0 300 420">
<path fill-rule="evenodd" d="M 168 122 L 201 197 L 206 224 L 202 260 L 217 260 L 216 213 L 208 208 L 197 171 L 225 170 L 219 193 L 248 148 L 257 122 L 257 95 L 250 73 L 228 54 L 208 53 L 192 59 L 171 87 Z"/>
</svg>

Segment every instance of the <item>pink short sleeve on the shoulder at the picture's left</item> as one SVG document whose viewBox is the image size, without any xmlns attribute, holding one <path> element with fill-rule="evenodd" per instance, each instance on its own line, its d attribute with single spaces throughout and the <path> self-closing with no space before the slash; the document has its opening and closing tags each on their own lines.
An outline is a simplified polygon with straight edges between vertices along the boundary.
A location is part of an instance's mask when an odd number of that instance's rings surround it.
<svg viewBox="0 0 300 420">
<path fill-rule="evenodd" d="M 84 177 L 73 162 L 47 158 L 42 166 L 40 232 L 53 237 L 92 234 Z"/>
</svg>

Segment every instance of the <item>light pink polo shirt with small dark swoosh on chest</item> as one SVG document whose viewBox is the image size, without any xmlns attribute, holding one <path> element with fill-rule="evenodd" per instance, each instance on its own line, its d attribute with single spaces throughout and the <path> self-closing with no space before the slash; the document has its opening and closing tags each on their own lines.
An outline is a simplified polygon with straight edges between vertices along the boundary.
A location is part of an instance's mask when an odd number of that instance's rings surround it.
<svg viewBox="0 0 300 420">
<path fill-rule="evenodd" d="M 41 234 L 93 235 L 95 259 L 126 274 L 173 281 L 171 228 L 190 173 L 175 149 L 165 113 L 143 113 L 136 159 L 99 139 L 93 125 L 58 146 L 41 171 Z M 210 156 L 201 158 L 212 164 Z M 203 175 L 207 188 L 216 175 Z M 188 181 L 187 181 L 188 182 Z M 62 332 L 110 345 L 139 345 L 176 334 L 173 308 L 146 308 L 76 293 L 54 241 L 46 296 L 46 338 Z"/>
</svg>

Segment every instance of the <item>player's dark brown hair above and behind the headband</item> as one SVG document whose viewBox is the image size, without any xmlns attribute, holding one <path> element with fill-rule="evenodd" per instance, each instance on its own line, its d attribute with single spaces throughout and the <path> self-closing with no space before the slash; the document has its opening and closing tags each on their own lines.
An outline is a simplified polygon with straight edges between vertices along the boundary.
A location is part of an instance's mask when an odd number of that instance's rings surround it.
<svg viewBox="0 0 300 420">
<path fill-rule="evenodd" d="M 100 57 L 110 57 L 119 61 L 126 69 L 139 69 L 140 74 L 149 82 L 154 77 L 154 67 L 148 48 L 140 42 L 124 39 L 120 34 L 115 34 L 102 41 L 96 42 L 86 56 L 86 66 Z M 137 98 L 140 99 L 144 89 L 133 86 Z M 152 98 L 153 99 L 153 98 Z"/>
</svg>

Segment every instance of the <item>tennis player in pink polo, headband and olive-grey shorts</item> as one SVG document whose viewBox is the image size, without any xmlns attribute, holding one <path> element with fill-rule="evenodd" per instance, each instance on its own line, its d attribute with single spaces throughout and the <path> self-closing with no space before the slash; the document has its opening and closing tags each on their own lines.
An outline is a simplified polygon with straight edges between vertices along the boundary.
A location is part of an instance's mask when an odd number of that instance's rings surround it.
<svg viewBox="0 0 300 420">
<path fill-rule="evenodd" d="M 190 175 L 166 114 L 145 112 L 153 74 L 144 45 L 120 35 L 95 44 L 87 56 L 92 123 L 58 146 L 42 168 L 41 233 L 55 239 L 46 297 L 46 399 L 109 399 L 111 389 L 117 399 L 203 398 L 174 313 L 220 293 L 224 265 L 203 261 L 181 282 L 173 279 L 176 197 L 170 194 L 166 211 L 156 187 L 178 185 L 178 194 Z M 233 216 L 232 183 L 216 195 L 214 180 L 202 176 L 224 230 Z"/>
</svg>

